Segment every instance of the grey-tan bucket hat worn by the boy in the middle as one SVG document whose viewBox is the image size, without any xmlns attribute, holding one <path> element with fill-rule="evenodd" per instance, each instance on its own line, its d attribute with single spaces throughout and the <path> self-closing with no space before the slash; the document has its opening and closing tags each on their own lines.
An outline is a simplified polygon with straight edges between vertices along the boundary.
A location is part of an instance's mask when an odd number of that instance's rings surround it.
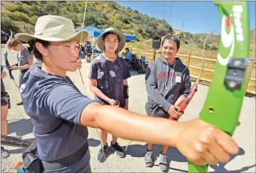
<svg viewBox="0 0 256 173">
<path fill-rule="evenodd" d="M 122 33 L 120 30 L 115 28 L 107 28 L 97 38 L 97 47 L 99 47 L 100 50 L 105 51 L 104 40 L 103 40 L 103 36 L 105 33 L 115 33 L 119 37 L 119 47 L 117 47 L 116 49 L 116 54 L 118 54 L 122 49 L 124 49 L 125 41 L 126 41 L 124 33 Z"/>
</svg>

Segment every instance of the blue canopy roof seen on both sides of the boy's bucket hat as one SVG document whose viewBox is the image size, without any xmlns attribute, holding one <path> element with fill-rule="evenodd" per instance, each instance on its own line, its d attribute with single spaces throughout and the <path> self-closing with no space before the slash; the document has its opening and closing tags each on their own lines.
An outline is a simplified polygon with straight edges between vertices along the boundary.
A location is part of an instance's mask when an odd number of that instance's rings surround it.
<svg viewBox="0 0 256 173">
<path fill-rule="evenodd" d="M 80 31 L 81 29 L 87 29 L 87 31 L 89 32 L 89 37 L 91 38 L 97 38 L 98 36 L 100 36 L 101 33 L 103 33 L 105 31 L 105 29 L 99 29 L 99 28 L 95 28 L 93 26 L 84 26 L 81 28 L 77 28 L 77 31 Z M 124 33 L 125 39 L 126 40 L 137 40 L 137 36 L 135 35 L 131 35 L 128 33 Z"/>
</svg>

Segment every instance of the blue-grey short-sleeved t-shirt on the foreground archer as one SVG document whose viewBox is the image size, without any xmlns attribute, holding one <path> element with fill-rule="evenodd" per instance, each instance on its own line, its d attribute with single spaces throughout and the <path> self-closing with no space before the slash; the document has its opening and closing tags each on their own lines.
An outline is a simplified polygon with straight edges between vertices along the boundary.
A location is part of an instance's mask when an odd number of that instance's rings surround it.
<svg viewBox="0 0 256 173">
<path fill-rule="evenodd" d="M 88 129 L 80 124 L 81 112 L 93 101 L 81 94 L 68 76 L 52 75 L 35 66 L 25 73 L 20 92 L 38 142 L 37 156 L 42 161 L 64 158 L 84 145 Z M 87 169 L 89 158 L 88 150 L 80 161 L 59 171 Z"/>
</svg>

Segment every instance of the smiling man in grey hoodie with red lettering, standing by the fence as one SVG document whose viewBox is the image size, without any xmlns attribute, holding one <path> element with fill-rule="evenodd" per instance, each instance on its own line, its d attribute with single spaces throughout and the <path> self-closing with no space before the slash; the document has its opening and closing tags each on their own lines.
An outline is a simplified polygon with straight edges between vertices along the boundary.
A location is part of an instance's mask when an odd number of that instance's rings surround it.
<svg viewBox="0 0 256 173">
<path fill-rule="evenodd" d="M 148 102 L 145 110 L 148 116 L 169 118 L 175 120 L 183 115 L 180 105 L 191 89 L 189 70 L 179 57 L 175 57 L 180 49 L 180 41 L 175 36 L 166 36 L 161 43 L 162 55 L 148 65 L 145 73 L 145 84 L 148 92 Z M 167 149 L 164 146 L 160 153 L 159 166 L 167 170 Z M 145 164 L 152 166 L 152 144 L 148 143 L 145 154 Z"/>
</svg>

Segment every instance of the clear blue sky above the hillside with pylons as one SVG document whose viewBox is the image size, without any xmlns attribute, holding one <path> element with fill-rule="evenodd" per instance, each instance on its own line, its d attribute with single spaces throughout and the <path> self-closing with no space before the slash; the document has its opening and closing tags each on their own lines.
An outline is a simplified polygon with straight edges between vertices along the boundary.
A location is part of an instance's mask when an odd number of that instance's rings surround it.
<svg viewBox="0 0 256 173">
<path fill-rule="evenodd" d="M 191 33 L 209 33 L 215 29 L 220 34 L 220 14 L 212 1 L 116 1 L 124 7 L 137 9 L 137 11 L 156 17 L 169 19 L 169 24 L 175 29 Z M 172 5 L 172 23 L 169 17 L 169 7 Z M 249 1 L 249 28 L 255 28 L 256 2 Z M 184 21 L 184 24 L 183 24 Z"/>
</svg>

